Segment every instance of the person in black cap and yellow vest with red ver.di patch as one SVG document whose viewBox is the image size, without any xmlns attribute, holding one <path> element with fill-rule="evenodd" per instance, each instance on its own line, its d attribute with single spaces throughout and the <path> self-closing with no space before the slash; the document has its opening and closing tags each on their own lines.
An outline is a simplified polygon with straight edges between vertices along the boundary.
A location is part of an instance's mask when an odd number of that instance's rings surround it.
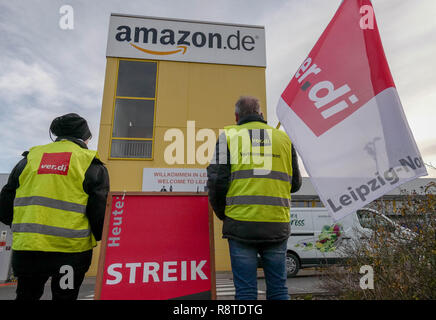
<svg viewBox="0 0 436 320">
<path fill-rule="evenodd" d="M 53 300 L 77 299 L 102 235 L 109 176 L 87 147 L 86 120 L 66 114 L 50 132 L 56 141 L 23 153 L 0 193 L 0 221 L 13 232 L 17 300 L 40 299 L 49 277 Z"/>
</svg>

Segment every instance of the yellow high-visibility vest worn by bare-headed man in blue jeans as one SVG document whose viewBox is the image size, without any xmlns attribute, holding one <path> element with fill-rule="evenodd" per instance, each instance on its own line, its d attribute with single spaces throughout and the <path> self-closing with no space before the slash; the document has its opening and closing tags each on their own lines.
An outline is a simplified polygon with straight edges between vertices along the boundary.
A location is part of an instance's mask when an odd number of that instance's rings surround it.
<svg viewBox="0 0 436 320">
<path fill-rule="evenodd" d="M 231 182 L 225 215 L 239 221 L 289 222 L 292 143 L 262 122 L 224 128 Z"/>
</svg>

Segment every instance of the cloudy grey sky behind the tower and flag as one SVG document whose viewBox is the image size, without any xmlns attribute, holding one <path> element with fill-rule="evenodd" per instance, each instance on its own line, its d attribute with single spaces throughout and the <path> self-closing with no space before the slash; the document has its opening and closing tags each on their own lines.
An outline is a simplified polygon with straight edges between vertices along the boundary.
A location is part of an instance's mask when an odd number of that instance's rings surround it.
<svg viewBox="0 0 436 320">
<path fill-rule="evenodd" d="M 96 149 L 110 13 L 263 25 L 268 122 L 341 0 L 0 0 L 0 173 L 50 142 L 58 115 L 88 120 Z M 74 30 L 59 27 L 61 6 Z M 436 1 L 373 0 L 386 56 L 426 163 L 436 166 Z M 428 168 L 429 177 L 436 170 Z"/>
</svg>

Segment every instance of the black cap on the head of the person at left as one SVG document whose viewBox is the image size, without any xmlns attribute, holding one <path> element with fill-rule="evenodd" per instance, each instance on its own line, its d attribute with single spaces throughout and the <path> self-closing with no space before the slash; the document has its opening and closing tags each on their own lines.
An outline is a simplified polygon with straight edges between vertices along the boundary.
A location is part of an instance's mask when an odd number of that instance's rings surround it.
<svg viewBox="0 0 436 320">
<path fill-rule="evenodd" d="M 50 131 L 57 137 L 73 137 L 83 141 L 91 137 L 88 123 L 76 113 L 55 118 L 50 125 Z"/>
</svg>

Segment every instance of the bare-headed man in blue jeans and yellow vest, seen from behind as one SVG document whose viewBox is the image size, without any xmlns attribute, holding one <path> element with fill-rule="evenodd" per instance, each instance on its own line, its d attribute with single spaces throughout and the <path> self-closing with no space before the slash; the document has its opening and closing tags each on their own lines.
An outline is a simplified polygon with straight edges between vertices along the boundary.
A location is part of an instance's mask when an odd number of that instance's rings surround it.
<svg viewBox="0 0 436 320">
<path fill-rule="evenodd" d="M 223 220 L 238 300 L 257 299 L 257 255 L 267 299 L 289 299 L 286 247 L 291 193 L 301 187 L 295 149 L 284 131 L 270 127 L 254 97 L 235 106 L 237 125 L 224 128 L 207 168 L 209 202 Z"/>
</svg>

